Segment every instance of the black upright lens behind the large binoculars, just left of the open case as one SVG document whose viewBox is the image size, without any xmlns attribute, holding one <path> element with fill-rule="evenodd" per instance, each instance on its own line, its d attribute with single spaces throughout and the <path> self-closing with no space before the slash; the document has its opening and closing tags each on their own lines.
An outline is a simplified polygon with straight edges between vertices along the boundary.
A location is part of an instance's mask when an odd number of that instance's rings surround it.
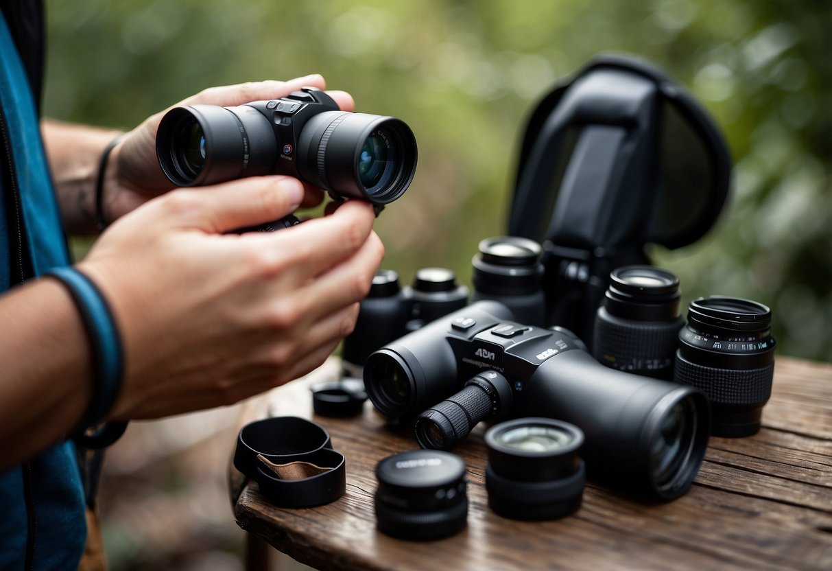
<svg viewBox="0 0 832 571">
<path fill-rule="evenodd" d="M 479 243 L 473 256 L 473 301 L 497 300 L 527 325 L 545 326 L 546 295 L 541 281 L 541 247 L 518 236 L 497 236 Z"/>
</svg>

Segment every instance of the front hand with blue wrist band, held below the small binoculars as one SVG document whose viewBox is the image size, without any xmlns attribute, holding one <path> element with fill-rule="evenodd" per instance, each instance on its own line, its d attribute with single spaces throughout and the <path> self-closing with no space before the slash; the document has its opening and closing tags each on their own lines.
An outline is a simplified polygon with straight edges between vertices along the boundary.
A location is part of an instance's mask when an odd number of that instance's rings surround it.
<svg viewBox="0 0 832 571">
<path fill-rule="evenodd" d="M 364 201 L 276 232 L 226 233 L 294 211 L 300 181 L 171 191 L 113 224 L 79 268 L 116 316 L 116 420 L 227 405 L 323 363 L 354 327 L 384 247 Z"/>
</svg>

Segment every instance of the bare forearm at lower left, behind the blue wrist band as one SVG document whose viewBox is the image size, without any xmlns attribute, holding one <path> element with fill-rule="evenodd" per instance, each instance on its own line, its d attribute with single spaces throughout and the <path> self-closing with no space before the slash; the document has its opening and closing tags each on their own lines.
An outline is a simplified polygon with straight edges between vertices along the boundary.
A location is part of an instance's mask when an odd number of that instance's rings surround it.
<svg viewBox="0 0 832 571">
<path fill-rule="evenodd" d="M 66 437 L 92 395 L 80 315 L 52 279 L 0 296 L 0 472 Z"/>
</svg>

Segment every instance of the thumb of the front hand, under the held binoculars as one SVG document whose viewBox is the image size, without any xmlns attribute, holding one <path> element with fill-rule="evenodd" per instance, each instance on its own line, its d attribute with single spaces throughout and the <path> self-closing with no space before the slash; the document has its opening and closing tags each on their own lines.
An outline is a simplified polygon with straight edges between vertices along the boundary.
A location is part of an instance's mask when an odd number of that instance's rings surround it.
<svg viewBox="0 0 832 571">
<path fill-rule="evenodd" d="M 174 191 L 182 196 L 186 226 L 222 234 L 245 226 L 275 221 L 295 211 L 303 201 L 303 184 L 290 176 L 250 176 L 214 186 Z"/>
</svg>

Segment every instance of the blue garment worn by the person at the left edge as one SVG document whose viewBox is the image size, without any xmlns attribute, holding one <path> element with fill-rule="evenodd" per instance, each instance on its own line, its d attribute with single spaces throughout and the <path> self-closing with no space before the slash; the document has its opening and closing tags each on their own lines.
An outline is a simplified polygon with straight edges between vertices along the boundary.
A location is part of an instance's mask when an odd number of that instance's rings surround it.
<svg viewBox="0 0 832 571">
<path fill-rule="evenodd" d="M 2 14 L 0 175 L 0 291 L 4 291 L 20 281 L 11 275 L 12 267 L 31 268 L 37 276 L 70 261 L 34 98 Z M 10 251 L 10 236 L 22 244 L 19 254 Z M 18 255 L 25 260 L 16 260 Z M 86 539 L 84 490 L 72 442 L 54 444 L 37 458 L 0 474 L 0 569 L 77 569 Z"/>
</svg>

